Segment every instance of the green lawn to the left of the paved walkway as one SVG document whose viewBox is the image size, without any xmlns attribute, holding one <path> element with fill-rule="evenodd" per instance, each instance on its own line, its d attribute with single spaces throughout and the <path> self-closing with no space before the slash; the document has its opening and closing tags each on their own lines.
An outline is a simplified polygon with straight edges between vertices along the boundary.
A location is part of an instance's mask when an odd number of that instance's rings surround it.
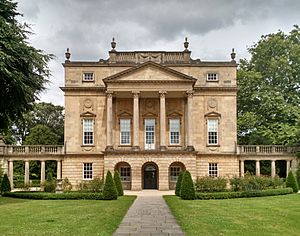
<svg viewBox="0 0 300 236">
<path fill-rule="evenodd" d="M 135 197 L 117 201 L 0 197 L 0 235 L 112 235 Z"/>
</svg>

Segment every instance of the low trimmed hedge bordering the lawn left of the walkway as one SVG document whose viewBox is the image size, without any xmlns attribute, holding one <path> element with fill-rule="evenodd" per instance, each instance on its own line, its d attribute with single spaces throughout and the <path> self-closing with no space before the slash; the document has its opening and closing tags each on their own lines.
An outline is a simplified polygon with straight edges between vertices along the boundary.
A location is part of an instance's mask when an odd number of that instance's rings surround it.
<svg viewBox="0 0 300 236">
<path fill-rule="evenodd" d="M 24 198 L 35 200 L 103 200 L 102 193 L 45 193 L 45 192 L 10 192 L 4 197 Z"/>
</svg>

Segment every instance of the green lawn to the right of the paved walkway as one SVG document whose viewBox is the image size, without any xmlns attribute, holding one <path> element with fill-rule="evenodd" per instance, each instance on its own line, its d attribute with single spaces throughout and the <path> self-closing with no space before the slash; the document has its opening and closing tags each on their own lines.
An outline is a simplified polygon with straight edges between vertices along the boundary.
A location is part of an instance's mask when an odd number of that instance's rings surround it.
<svg viewBox="0 0 300 236">
<path fill-rule="evenodd" d="M 164 198 L 186 235 L 300 235 L 300 194 L 228 200 Z"/>
</svg>

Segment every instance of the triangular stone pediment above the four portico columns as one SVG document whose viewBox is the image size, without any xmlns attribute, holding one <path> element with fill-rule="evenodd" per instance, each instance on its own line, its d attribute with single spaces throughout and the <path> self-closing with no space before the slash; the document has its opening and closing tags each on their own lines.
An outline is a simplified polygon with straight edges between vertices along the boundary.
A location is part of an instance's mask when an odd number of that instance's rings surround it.
<svg viewBox="0 0 300 236">
<path fill-rule="evenodd" d="M 186 82 L 194 84 L 196 79 L 169 67 L 149 61 L 109 76 L 103 81 L 105 83 Z"/>
</svg>

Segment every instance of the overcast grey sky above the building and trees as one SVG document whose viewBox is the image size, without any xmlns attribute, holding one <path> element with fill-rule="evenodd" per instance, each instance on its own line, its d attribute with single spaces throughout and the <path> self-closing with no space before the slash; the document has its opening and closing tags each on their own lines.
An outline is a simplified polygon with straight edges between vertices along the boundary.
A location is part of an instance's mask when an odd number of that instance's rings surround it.
<svg viewBox="0 0 300 236">
<path fill-rule="evenodd" d="M 183 50 L 192 58 L 248 58 L 247 47 L 261 35 L 289 32 L 300 24 L 299 0 L 18 0 L 20 21 L 31 24 L 30 43 L 56 56 L 42 101 L 63 105 L 61 63 L 106 59 L 112 37 L 117 50 Z"/>
</svg>

